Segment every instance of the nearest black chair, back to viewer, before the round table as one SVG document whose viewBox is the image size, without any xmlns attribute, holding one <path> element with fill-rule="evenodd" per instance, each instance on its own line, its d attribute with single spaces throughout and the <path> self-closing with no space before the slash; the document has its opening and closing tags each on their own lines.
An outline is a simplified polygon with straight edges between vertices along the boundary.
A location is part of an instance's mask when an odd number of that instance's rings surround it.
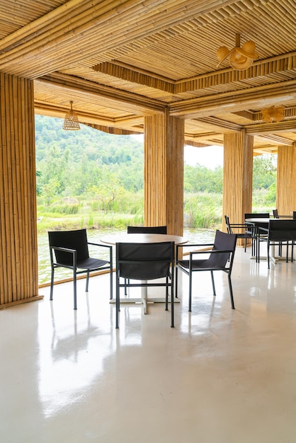
<svg viewBox="0 0 296 443">
<path fill-rule="evenodd" d="M 116 243 L 116 328 L 119 327 L 120 287 L 166 287 L 166 311 L 169 310 L 169 287 L 173 295 L 175 243 Z M 120 278 L 125 280 L 120 283 Z M 165 282 L 149 282 L 165 278 Z M 130 282 L 142 280 L 142 282 Z M 173 328 L 171 296 L 171 328 Z"/>
</svg>

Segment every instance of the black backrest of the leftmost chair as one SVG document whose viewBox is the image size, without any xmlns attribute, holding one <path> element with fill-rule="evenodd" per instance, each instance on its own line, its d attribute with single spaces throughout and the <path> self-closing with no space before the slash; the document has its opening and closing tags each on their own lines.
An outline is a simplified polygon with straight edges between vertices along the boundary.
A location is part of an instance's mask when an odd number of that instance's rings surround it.
<svg viewBox="0 0 296 443">
<path fill-rule="evenodd" d="M 77 261 L 89 258 L 86 229 L 77 229 L 75 231 L 49 231 L 48 240 L 50 246 L 75 249 L 77 251 Z M 57 263 L 72 263 L 71 253 L 55 251 L 55 258 Z"/>
</svg>

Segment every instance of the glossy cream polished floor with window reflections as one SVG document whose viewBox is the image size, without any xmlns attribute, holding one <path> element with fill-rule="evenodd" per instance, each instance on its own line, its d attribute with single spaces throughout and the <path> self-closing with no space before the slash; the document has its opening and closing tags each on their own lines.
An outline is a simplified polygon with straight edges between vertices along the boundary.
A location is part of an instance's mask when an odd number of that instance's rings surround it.
<svg viewBox="0 0 296 443">
<path fill-rule="evenodd" d="M 227 276 L 183 275 L 164 304 L 115 305 L 108 275 L 0 311 L 1 443 L 296 442 L 296 264 L 237 248 Z M 163 289 L 161 289 L 163 290 Z"/>
</svg>

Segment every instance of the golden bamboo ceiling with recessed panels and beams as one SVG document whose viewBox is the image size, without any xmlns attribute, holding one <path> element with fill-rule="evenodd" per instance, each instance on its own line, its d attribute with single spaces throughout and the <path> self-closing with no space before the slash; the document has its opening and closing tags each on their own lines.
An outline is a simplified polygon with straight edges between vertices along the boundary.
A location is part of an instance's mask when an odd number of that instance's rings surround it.
<svg viewBox="0 0 296 443">
<path fill-rule="evenodd" d="M 0 0 L 0 71 L 34 79 L 35 112 L 110 132 L 144 116 L 185 119 L 188 144 L 245 129 L 255 152 L 296 142 L 295 0 Z M 258 59 L 217 68 L 217 48 L 256 44 Z M 261 110 L 285 106 L 280 122 Z"/>
</svg>

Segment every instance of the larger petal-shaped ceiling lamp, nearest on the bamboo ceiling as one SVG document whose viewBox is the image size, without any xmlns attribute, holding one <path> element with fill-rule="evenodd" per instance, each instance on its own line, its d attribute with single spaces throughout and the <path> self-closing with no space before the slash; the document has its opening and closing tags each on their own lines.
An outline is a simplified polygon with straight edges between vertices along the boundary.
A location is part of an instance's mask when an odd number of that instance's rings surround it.
<svg viewBox="0 0 296 443">
<path fill-rule="evenodd" d="M 235 47 L 232 50 L 228 50 L 226 46 L 221 46 L 217 49 L 217 57 L 220 62 L 217 64 L 217 68 L 224 62 L 224 59 L 229 57 L 230 66 L 237 71 L 248 69 L 254 62 L 254 59 L 258 59 L 258 54 L 255 52 L 255 43 L 249 40 L 241 47 L 241 36 L 235 35 Z"/>
</svg>

